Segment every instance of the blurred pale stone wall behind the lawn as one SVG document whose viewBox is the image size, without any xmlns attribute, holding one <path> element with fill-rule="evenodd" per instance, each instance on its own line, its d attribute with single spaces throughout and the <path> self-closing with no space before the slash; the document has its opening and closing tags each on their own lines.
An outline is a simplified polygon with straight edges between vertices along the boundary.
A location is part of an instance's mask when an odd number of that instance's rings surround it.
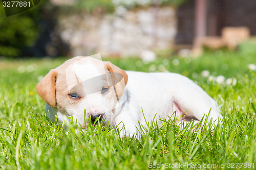
<svg viewBox="0 0 256 170">
<path fill-rule="evenodd" d="M 172 47 L 177 18 L 172 7 L 124 10 L 119 15 L 62 14 L 57 28 L 73 56 L 138 56 L 144 50 Z"/>
</svg>

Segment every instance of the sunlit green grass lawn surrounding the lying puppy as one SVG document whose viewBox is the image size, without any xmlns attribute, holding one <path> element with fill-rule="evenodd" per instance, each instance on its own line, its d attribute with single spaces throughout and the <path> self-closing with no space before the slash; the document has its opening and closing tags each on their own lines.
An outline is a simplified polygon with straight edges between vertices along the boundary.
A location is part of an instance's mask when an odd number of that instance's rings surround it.
<svg viewBox="0 0 256 170">
<path fill-rule="evenodd" d="M 197 125 L 181 128 L 168 120 L 163 127 L 151 125 L 139 139 L 122 140 L 115 130 L 100 125 L 75 132 L 73 124 L 65 129 L 49 122 L 35 86 L 65 60 L 0 60 L 1 169 L 148 169 L 165 163 L 216 164 L 219 169 L 223 164 L 227 169 L 228 163 L 254 163 L 251 169 L 256 169 L 256 76 L 248 69 L 248 64 L 256 63 L 255 54 L 219 51 L 196 59 L 178 58 L 178 65 L 173 64 L 177 58 L 148 64 L 136 58 L 110 59 L 122 69 L 183 74 L 217 101 L 224 116 L 223 126 L 215 131 L 202 128 L 191 133 L 188 128 Z M 203 70 L 214 77 L 236 78 L 237 84 L 209 81 L 201 76 Z"/>
</svg>

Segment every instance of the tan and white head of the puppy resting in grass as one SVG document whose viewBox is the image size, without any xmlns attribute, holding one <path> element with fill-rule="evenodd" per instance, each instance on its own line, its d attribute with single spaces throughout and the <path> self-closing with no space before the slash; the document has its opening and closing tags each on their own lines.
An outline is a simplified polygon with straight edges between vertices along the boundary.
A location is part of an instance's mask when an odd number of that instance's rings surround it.
<svg viewBox="0 0 256 170">
<path fill-rule="evenodd" d="M 112 122 L 115 108 L 124 101 L 126 83 L 126 72 L 112 63 L 75 57 L 50 70 L 36 89 L 51 107 L 86 127 L 89 116 L 92 123 L 96 117 Z"/>
</svg>

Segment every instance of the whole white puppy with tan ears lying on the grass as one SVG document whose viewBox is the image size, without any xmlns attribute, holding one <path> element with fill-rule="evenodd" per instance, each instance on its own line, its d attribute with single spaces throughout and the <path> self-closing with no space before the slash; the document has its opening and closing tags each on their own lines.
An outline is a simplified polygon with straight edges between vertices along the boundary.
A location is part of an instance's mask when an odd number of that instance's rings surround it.
<svg viewBox="0 0 256 170">
<path fill-rule="evenodd" d="M 217 103 L 184 76 L 170 72 L 124 71 L 111 62 L 92 57 L 67 60 L 50 70 L 36 89 L 46 101 L 46 111 L 52 121 L 55 116 L 58 122 L 73 116 L 84 128 L 99 117 L 103 124 L 118 126 L 121 136 L 132 136 L 136 126 L 139 127 L 138 122 L 146 127 L 155 115 L 154 121 L 159 125 L 159 117 L 174 119 L 182 114 L 186 122 L 191 119 L 198 122 L 209 111 L 208 121 L 212 119 L 218 124 L 222 118 Z"/>
</svg>

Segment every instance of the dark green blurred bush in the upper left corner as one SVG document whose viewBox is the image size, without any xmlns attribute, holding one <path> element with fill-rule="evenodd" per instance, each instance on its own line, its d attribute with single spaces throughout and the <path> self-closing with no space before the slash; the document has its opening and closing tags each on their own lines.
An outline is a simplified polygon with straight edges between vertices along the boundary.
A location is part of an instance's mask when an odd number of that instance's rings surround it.
<svg viewBox="0 0 256 170">
<path fill-rule="evenodd" d="M 9 17 L 3 6 L 0 7 L 0 56 L 19 57 L 24 47 L 34 44 L 40 33 L 40 11 L 46 2 Z"/>
</svg>

